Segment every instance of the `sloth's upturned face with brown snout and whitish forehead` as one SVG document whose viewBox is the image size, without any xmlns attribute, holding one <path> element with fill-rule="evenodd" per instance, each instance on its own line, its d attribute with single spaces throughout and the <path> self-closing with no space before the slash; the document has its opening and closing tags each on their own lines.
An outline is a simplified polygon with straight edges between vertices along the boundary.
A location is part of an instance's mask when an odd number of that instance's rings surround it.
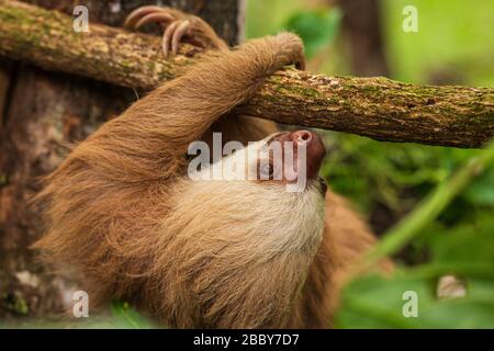
<svg viewBox="0 0 494 351">
<path fill-rule="evenodd" d="M 229 155 L 211 168 L 200 171 L 199 178 L 281 184 L 291 192 L 304 191 L 315 184 L 323 194 L 326 191 L 324 181 L 317 177 L 325 148 L 315 133 L 276 133 L 227 152 Z"/>
</svg>

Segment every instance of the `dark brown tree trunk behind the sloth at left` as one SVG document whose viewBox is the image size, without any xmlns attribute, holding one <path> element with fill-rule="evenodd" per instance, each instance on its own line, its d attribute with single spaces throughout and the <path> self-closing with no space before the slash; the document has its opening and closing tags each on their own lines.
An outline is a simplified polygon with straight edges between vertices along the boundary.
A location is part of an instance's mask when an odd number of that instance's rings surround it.
<svg viewBox="0 0 494 351">
<path fill-rule="evenodd" d="M 71 0 L 30 2 L 69 14 L 75 7 Z M 238 1 L 170 0 L 161 3 L 200 14 L 220 35 L 236 42 Z M 119 25 L 133 9 L 156 4 L 156 1 L 86 0 L 83 4 L 89 8 L 92 30 L 96 21 Z M 35 33 L 25 25 L 40 13 L 54 15 L 55 21 L 58 16 L 65 19 L 71 32 L 71 18 L 58 11 L 3 0 L 0 9 L 2 34 L 3 25 L 19 21 L 20 26 L 11 34 L 33 38 Z M 12 12 L 4 12 L 5 9 Z M 24 13 L 30 9 L 41 12 Z M 32 24 L 38 30 L 46 29 L 48 34 L 53 30 L 50 21 L 49 16 L 37 18 Z M 0 47 L 7 48 L 9 43 L 12 42 L 0 39 Z M 74 57 L 67 56 L 68 66 L 71 59 Z M 78 66 L 77 61 L 80 63 L 76 60 L 72 65 Z M 46 274 L 29 249 L 43 231 L 40 208 L 30 205 L 30 199 L 40 190 L 38 178 L 55 169 L 64 158 L 63 144 L 85 138 L 136 99 L 128 88 L 0 60 L 0 107 L 3 106 L 0 110 L 3 122 L 0 123 L 0 317 L 46 316 L 72 304 L 71 292 L 77 286 L 60 274 Z"/>
</svg>

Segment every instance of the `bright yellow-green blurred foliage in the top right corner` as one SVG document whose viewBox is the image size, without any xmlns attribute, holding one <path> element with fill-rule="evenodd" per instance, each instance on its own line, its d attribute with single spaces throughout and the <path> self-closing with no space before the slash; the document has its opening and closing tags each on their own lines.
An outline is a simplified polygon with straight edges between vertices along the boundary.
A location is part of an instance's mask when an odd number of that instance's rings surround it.
<svg viewBox="0 0 494 351">
<path fill-rule="evenodd" d="M 416 83 L 446 76 L 453 83 L 494 83 L 494 1 L 384 0 L 383 22 L 393 78 Z M 405 5 L 418 10 L 418 32 L 402 29 Z"/>
</svg>

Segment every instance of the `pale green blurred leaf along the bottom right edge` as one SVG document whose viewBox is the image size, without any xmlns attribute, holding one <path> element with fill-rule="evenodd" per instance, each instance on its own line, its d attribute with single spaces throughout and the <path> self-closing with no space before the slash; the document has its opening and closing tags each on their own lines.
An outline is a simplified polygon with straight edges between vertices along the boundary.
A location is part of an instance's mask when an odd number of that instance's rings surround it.
<svg viewBox="0 0 494 351">
<path fill-rule="evenodd" d="M 434 276 L 396 273 L 392 279 L 378 275 L 351 282 L 343 292 L 336 315 L 339 328 L 494 328 L 494 281 L 472 279 L 468 296 L 438 299 Z M 406 317 L 405 292 L 417 295 L 417 317 Z"/>
</svg>

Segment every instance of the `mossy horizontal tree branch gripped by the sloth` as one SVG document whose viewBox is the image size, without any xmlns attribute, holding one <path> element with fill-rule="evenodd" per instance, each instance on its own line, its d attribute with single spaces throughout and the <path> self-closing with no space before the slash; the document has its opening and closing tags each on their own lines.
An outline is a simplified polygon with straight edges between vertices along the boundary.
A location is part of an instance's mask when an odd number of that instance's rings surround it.
<svg viewBox="0 0 494 351">
<path fill-rule="evenodd" d="M 188 45 L 164 59 L 160 38 L 90 24 L 13 0 L 0 0 L 0 55 L 48 70 L 149 90 L 200 59 Z M 278 71 L 238 112 L 284 124 L 389 141 L 481 147 L 494 136 L 494 89 L 405 84 L 385 78 Z"/>
</svg>

